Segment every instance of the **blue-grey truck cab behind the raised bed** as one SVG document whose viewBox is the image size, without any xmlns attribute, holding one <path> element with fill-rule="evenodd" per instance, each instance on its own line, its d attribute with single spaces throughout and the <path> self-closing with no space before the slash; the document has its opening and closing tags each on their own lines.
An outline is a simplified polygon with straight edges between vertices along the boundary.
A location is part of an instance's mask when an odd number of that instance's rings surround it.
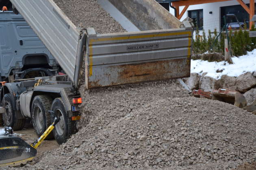
<svg viewBox="0 0 256 170">
<path fill-rule="evenodd" d="M 0 81 L 51 76 L 56 71 L 56 60 L 22 15 L 0 11 Z"/>
</svg>

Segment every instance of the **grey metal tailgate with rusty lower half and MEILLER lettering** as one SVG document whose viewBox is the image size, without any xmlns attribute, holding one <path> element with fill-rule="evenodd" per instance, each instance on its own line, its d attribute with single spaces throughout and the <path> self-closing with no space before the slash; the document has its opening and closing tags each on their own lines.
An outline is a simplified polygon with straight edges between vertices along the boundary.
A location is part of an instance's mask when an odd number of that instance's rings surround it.
<svg viewBox="0 0 256 170">
<path fill-rule="evenodd" d="M 189 77 L 192 32 L 180 28 L 94 34 L 88 29 L 87 88 Z"/>
</svg>

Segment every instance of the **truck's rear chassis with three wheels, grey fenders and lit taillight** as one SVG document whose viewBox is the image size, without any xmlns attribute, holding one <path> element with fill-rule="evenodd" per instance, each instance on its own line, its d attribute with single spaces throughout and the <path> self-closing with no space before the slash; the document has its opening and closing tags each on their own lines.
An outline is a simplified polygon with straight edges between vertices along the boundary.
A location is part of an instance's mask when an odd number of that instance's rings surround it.
<svg viewBox="0 0 256 170">
<path fill-rule="evenodd" d="M 61 120 L 49 139 L 54 136 L 61 144 L 77 132 L 81 98 L 66 75 L 19 81 L 3 83 L 0 100 L 5 125 L 21 130 L 26 118 L 30 118 L 36 134 L 41 136 L 54 119 L 48 113 L 53 110 Z"/>
</svg>

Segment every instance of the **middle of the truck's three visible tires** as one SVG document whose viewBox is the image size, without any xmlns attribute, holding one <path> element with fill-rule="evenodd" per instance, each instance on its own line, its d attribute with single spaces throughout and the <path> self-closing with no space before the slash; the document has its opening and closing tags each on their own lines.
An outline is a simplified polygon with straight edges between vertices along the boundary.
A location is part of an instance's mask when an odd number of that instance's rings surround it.
<svg viewBox="0 0 256 170">
<path fill-rule="evenodd" d="M 51 110 L 51 106 L 52 98 L 50 96 L 39 95 L 33 99 L 31 119 L 37 136 L 41 136 L 52 124 L 50 113 L 48 113 L 48 110 Z M 46 137 L 46 140 L 49 139 L 53 139 L 52 133 Z"/>
</svg>

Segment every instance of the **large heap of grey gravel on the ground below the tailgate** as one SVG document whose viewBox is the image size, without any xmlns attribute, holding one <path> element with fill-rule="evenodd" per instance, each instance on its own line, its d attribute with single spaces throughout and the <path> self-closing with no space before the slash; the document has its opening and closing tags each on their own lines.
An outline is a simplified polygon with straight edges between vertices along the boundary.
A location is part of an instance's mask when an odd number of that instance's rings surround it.
<svg viewBox="0 0 256 170">
<path fill-rule="evenodd" d="M 222 170 L 255 161 L 256 116 L 190 98 L 175 81 L 84 95 L 87 127 L 29 168 Z"/>
</svg>

